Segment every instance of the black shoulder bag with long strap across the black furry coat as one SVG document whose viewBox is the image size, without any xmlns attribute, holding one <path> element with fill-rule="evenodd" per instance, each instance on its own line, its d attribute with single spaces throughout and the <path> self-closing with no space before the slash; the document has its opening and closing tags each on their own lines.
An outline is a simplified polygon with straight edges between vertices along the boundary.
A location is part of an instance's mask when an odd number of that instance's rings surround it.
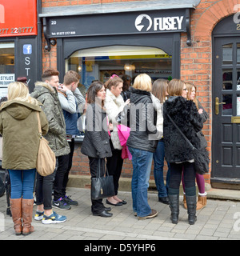
<svg viewBox="0 0 240 256">
<path fill-rule="evenodd" d="M 174 126 L 177 128 L 180 134 L 182 134 L 183 138 L 185 138 L 186 142 L 191 147 L 191 150 L 193 150 L 194 154 L 194 169 L 198 174 L 207 174 L 209 172 L 209 152 L 206 150 L 206 147 L 202 147 L 199 149 L 196 149 L 193 144 L 190 142 L 188 138 L 186 138 L 185 134 L 182 133 L 182 130 L 179 129 L 179 127 L 176 125 L 174 120 L 170 117 L 169 114 L 167 114 L 168 118 L 170 118 L 170 121 L 174 124 Z"/>
</svg>

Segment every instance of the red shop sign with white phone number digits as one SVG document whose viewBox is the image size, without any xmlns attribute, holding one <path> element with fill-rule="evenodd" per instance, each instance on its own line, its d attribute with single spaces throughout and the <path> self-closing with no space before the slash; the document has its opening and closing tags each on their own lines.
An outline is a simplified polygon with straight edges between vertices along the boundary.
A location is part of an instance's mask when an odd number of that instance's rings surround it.
<svg viewBox="0 0 240 256">
<path fill-rule="evenodd" d="M 0 37 L 36 35 L 37 0 L 0 2 Z"/>
</svg>

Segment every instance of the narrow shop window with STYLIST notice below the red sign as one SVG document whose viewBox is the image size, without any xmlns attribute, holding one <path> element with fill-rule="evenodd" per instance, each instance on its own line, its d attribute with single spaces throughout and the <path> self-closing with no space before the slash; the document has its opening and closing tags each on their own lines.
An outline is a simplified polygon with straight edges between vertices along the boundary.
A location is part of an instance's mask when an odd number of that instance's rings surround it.
<svg viewBox="0 0 240 256">
<path fill-rule="evenodd" d="M 0 98 L 6 97 L 7 85 L 15 81 L 14 42 L 0 42 Z"/>
</svg>

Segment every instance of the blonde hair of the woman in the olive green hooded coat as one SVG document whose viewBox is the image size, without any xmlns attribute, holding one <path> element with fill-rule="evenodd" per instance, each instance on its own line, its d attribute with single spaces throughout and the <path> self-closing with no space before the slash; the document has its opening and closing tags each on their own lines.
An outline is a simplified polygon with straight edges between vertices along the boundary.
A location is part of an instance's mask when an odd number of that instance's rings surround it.
<svg viewBox="0 0 240 256">
<path fill-rule="evenodd" d="M 38 106 L 38 101 L 30 97 L 28 87 L 22 82 L 11 82 L 7 90 L 7 99 L 28 102 Z"/>
</svg>

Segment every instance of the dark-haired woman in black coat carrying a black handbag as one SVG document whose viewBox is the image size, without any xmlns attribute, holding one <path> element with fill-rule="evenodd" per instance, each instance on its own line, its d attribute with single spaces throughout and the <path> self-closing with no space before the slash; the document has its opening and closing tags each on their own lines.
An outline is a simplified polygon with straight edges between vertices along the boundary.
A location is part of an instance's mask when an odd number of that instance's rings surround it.
<svg viewBox="0 0 240 256">
<path fill-rule="evenodd" d="M 111 157 L 108 123 L 106 111 L 103 107 L 106 98 L 105 86 L 102 82 L 93 82 L 87 90 L 86 130 L 82 142 L 81 152 L 89 158 L 91 178 L 98 174 L 98 160 L 100 158 L 100 176 L 105 173 L 105 158 Z M 105 207 L 102 199 L 91 200 L 93 215 L 111 217 L 110 207 Z"/>
</svg>

